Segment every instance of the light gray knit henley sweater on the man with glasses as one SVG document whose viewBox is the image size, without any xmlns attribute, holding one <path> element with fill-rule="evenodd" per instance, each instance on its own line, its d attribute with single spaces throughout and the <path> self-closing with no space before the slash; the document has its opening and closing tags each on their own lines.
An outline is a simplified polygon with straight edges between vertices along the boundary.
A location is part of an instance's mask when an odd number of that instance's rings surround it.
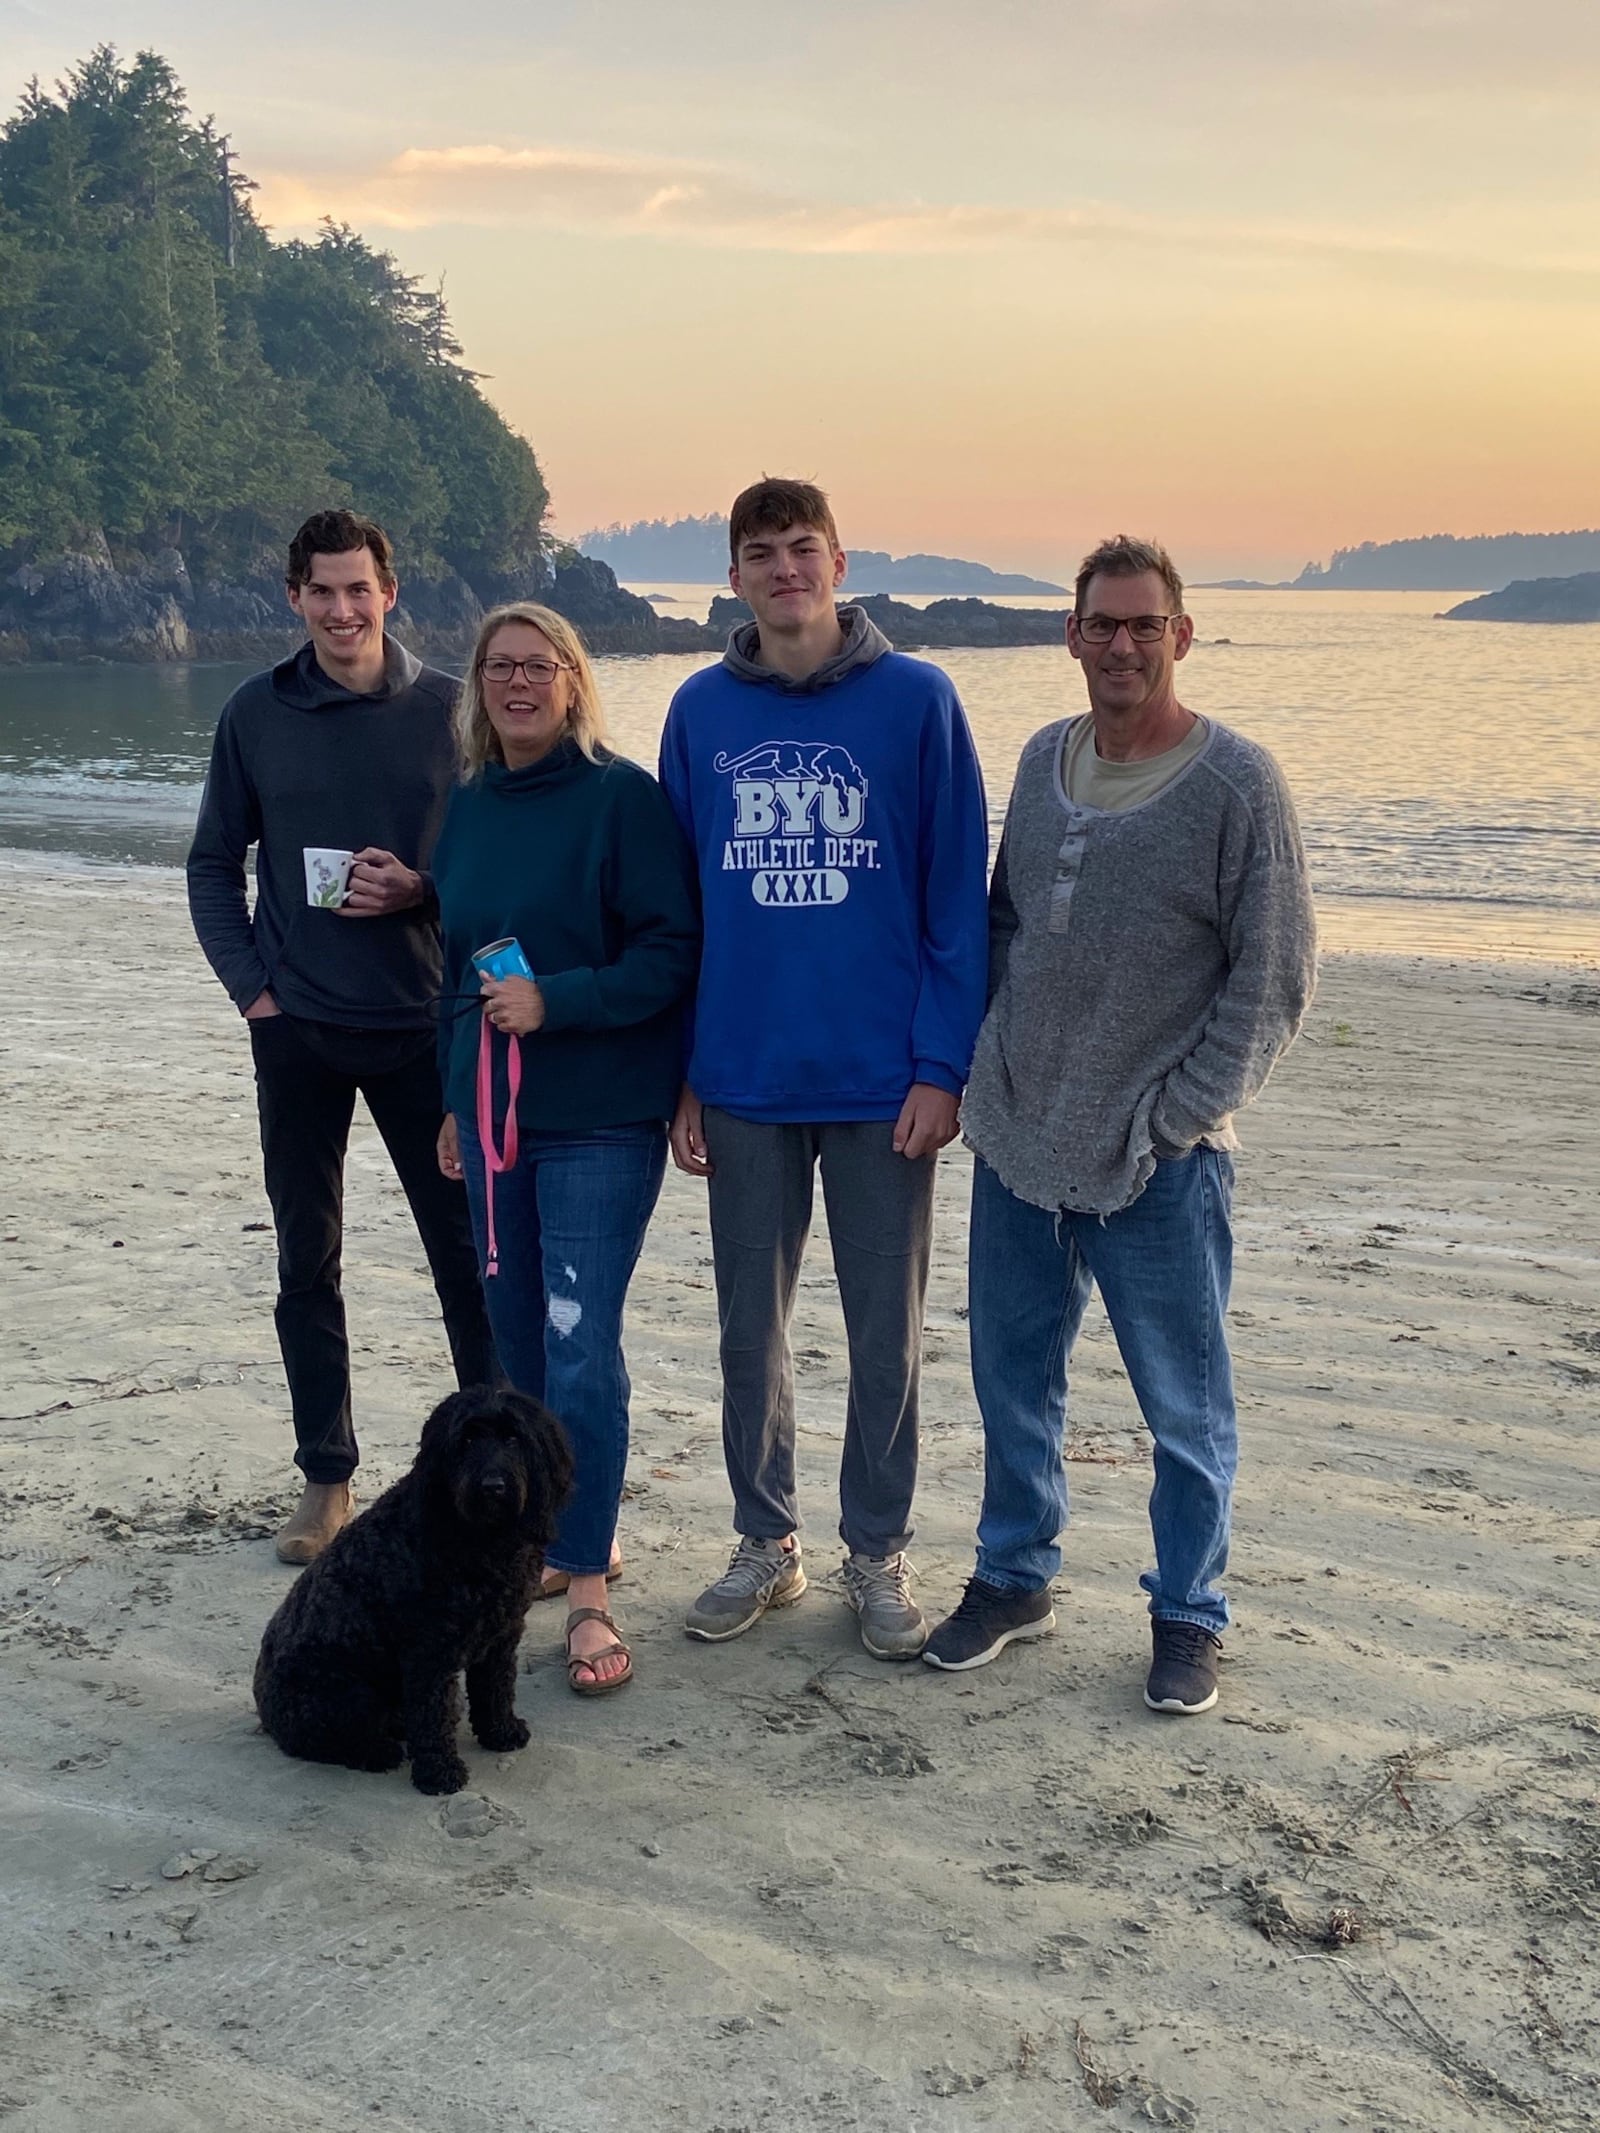
<svg viewBox="0 0 1600 2133">
<path fill-rule="evenodd" d="M 1237 1148 L 1233 1113 L 1306 1015 L 1316 921 L 1265 749 L 1212 725 L 1171 785 L 1111 815 L 1062 789 L 1071 725 L 1018 764 L 962 1128 L 1033 1207 L 1116 1214 L 1156 1156 Z"/>
</svg>

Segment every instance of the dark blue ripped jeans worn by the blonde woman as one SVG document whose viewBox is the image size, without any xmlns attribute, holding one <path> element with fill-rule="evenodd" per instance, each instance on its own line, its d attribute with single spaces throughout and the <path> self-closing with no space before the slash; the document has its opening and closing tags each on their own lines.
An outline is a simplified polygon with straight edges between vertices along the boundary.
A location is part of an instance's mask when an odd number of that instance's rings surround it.
<svg viewBox="0 0 1600 2133">
<path fill-rule="evenodd" d="M 484 1158 L 457 1113 L 478 1263 L 486 1254 Z M 576 1487 L 548 1553 L 591 1576 L 610 1561 L 627 1468 L 623 1301 L 666 1171 L 666 1128 L 523 1133 L 516 1169 L 495 1180 L 499 1273 L 484 1282 L 506 1376 L 567 1427 Z"/>
</svg>

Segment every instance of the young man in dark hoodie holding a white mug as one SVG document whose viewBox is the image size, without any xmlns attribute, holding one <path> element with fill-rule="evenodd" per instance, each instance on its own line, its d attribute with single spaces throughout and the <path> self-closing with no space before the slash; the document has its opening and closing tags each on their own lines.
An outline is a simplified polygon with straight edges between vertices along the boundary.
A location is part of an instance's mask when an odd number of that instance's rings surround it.
<svg viewBox="0 0 1600 2133">
<path fill-rule="evenodd" d="M 425 868 L 454 781 L 457 685 L 386 636 L 397 589 L 371 520 L 341 510 L 305 520 L 288 550 L 288 602 L 309 642 L 224 704 L 188 860 L 194 930 L 250 1024 L 256 1062 L 277 1342 L 305 1474 L 277 1536 L 286 1563 L 309 1563 L 352 1512 L 339 1248 L 356 1094 L 412 1203 L 457 1380 L 499 1376 L 467 1194 L 435 1160 L 439 928 Z M 309 900 L 316 849 L 354 851 L 333 909 Z"/>
</svg>

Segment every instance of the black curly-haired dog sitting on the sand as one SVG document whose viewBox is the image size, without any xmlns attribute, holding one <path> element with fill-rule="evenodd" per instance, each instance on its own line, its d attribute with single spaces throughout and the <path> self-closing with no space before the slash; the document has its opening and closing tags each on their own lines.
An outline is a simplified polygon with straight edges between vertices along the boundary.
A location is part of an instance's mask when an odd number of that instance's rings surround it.
<svg viewBox="0 0 1600 2133">
<path fill-rule="evenodd" d="M 452 1393 L 412 1472 L 301 1572 L 256 1659 L 260 1723 L 288 1755 L 397 1770 L 461 1792 L 461 1696 L 489 1749 L 527 1747 L 516 1642 L 538 1591 L 572 1450 L 538 1399 Z"/>
</svg>

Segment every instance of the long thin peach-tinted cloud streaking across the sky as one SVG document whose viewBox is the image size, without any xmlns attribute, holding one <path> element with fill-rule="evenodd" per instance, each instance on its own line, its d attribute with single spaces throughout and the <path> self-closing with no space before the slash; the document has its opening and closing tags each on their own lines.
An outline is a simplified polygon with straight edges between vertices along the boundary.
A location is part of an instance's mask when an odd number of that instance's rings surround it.
<svg viewBox="0 0 1600 2133">
<path fill-rule="evenodd" d="M 407 147 L 369 173 L 267 175 L 258 213 L 275 228 L 322 215 L 367 230 L 439 224 L 561 228 L 787 254 L 977 254 L 1090 245 L 1188 252 L 1214 260 L 1342 264 L 1382 275 L 1532 282 L 1600 296 L 1600 260 L 1489 256 L 1361 228 L 1182 220 L 1079 203 L 841 203 L 798 198 L 721 164 L 574 147 Z"/>
</svg>

